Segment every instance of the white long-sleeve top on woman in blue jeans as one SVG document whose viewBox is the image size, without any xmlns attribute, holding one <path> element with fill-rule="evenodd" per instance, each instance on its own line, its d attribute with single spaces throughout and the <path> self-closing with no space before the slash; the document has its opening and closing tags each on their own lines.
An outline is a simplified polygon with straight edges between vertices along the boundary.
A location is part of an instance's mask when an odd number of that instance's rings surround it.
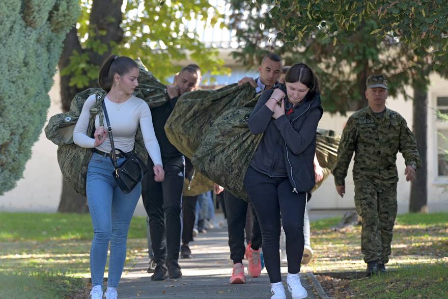
<svg viewBox="0 0 448 299">
<path fill-rule="evenodd" d="M 93 148 L 95 147 L 95 139 L 87 135 L 87 128 L 89 126 L 90 108 L 96 102 L 96 95 L 93 94 L 87 98 L 82 106 L 81 115 L 76 122 L 73 131 L 73 142 L 80 147 Z M 121 149 L 127 153 L 134 149 L 135 134 L 138 125 L 142 130 L 143 139 L 146 150 L 151 157 L 154 165 L 162 164 L 162 157 L 160 154 L 159 143 L 157 142 L 156 134 L 152 124 L 151 111 L 148 104 L 141 98 L 132 95 L 125 102 L 117 104 L 110 101 L 107 96 L 104 98 L 106 104 L 107 115 L 109 116 L 110 126 L 114 135 L 115 148 Z M 99 116 L 95 117 L 95 128 L 100 126 Z M 104 117 L 104 127 L 107 128 L 106 118 Z M 107 130 L 107 129 L 106 129 Z M 106 140 L 96 149 L 110 153 L 110 140 Z"/>
</svg>

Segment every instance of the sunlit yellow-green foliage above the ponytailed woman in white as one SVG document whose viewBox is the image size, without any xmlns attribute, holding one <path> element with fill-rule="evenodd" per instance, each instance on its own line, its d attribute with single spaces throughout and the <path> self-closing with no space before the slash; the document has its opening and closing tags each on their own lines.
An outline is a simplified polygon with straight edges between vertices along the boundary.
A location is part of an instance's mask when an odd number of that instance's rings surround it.
<svg viewBox="0 0 448 299">
<path fill-rule="evenodd" d="M 185 60 L 198 64 L 203 73 L 212 75 L 228 73 L 223 60 L 218 58 L 217 49 L 207 48 L 199 35 L 186 28 L 185 21 L 208 20 L 214 25 L 221 15 L 207 0 L 127 1 L 123 10 L 123 39 L 103 43 L 97 37 L 104 30 L 90 25 L 92 4 L 95 0 L 81 0 L 81 17 L 78 20 L 78 36 L 85 52 L 75 52 L 63 75 L 70 75 L 70 85 L 77 88 L 89 87 L 96 80 L 99 65 L 92 61 L 92 52 L 102 55 L 109 51 L 123 56 L 141 58 L 144 65 L 163 83 L 179 72 Z M 183 62 L 182 62 L 183 61 Z"/>
</svg>

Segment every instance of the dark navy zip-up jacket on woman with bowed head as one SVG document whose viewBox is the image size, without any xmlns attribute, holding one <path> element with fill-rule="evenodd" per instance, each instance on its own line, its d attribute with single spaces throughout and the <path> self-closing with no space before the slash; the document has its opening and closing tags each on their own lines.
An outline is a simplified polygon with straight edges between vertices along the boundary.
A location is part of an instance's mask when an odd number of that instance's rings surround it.
<svg viewBox="0 0 448 299">
<path fill-rule="evenodd" d="M 279 86 L 288 95 L 285 85 Z M 292 192 L 309 192 L 315 185 L 314 154 L 316 152 L 316 129 L 323 114 L 319 93 L 309 92 L 293 112 L 273 119 L 274 114 L 265 103 L 273 90 L 260 96 L 250 114 L 248 126 L 252 133 L 264 133 L 250 166 L 271 177 L 288 176 Z"/>
</svg>

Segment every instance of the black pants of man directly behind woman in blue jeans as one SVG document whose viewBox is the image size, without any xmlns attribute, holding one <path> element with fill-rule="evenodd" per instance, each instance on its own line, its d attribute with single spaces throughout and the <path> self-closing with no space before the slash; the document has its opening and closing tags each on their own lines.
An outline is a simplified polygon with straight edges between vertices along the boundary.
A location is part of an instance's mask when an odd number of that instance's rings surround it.
<svg viewBox="0 0 448 299">
<path fill-rule="evenodd" d="M 149 217 L 154 260 L 158 263 L 178 260 L 185 160 L 183 156 L 180 156 L 163 161 L 165 180 L 161 183 L 154 181 L 151 159 L 149 159 L 148 168 L 150 170 L 142 182 L 142 198 Z"/>
</svg>

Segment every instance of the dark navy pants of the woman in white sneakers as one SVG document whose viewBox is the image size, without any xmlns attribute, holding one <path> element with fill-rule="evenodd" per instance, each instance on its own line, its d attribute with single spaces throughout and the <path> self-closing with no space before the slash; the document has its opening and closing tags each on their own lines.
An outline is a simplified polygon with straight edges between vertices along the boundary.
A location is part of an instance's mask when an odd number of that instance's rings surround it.
<svg viewBox="0 0 448 299">
<path fill-rule="evenodd" d="M 260 222 L 263 257 L 270 282 L 282 281 L 279 254 L 281 218 L 286 236 L 288 273 L 299 273 L 304 246 L 306 193 L 293 193 L 288 177 L 271 178 L 251 167 L 244 177 L 244 188 Z"/>
</svg>

